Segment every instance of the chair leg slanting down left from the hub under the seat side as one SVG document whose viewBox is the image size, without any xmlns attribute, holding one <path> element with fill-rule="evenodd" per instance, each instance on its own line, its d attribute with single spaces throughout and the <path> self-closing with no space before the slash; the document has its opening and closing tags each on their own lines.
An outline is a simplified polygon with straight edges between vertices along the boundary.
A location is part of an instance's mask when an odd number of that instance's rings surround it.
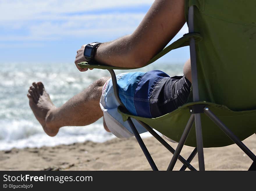
<svg viewBox="0 0 256 191">
<path fill-rule="evenodd" d="M 194 114 L 191 114 L 191 116 L 189 118 L 189 121 L 188 121 L 188 123 L 187 123 L 187 125 L 186 125 L 186 127 L 184 129 L 184 132 L 182 133 L 182 136 L 181 136 L 181 138 L 179 140 L 178 146 L 177 146 L 177 148 L 176 148 L 176 150 L 175 150 L 175 152 L 173 154 L 173 158 L 172 158 L 172 160 L 171 160 L 167 170 L 173 170 L 174 165 L 177 162 L 179 154 L 180 154 L 180 152 L 182 150 L 182 147 L 183 147 L 183 145 L 184 145 L 184 143 L 185 143 L 185 141 L 186 141 L 186 139 L 187 139 L 187 137 L 189 135 L 189 131 L 190 131 L 193 123 L 194 123 Z"/>
</svg>

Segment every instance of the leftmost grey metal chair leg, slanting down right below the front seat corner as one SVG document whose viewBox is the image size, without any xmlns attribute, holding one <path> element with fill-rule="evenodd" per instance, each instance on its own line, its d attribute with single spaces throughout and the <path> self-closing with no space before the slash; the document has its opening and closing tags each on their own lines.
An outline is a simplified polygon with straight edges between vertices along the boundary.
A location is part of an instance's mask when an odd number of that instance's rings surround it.
<svg viewBox="0 0 256 191">
<path fill-rule="evenodd" d="M 129 117 L 127 121 L 129 123 L 131 130 L 133 131 L 133 134 L 134 134 L 136 140 L 138 141 L 144 155 L 146 156 L 147 161 L 150 164 L 152 170 L 158 170 L 156 164 L 154 163 L 154 160 L 152 159 L 150 153 L 147 150 L 147 147 L 145 146 L 143 140 L 141 139 L 140 134 L 138 133 L 137 129 L 135 128 L 133 122 L 131 121 L 131 118 Z"/>
</svg>

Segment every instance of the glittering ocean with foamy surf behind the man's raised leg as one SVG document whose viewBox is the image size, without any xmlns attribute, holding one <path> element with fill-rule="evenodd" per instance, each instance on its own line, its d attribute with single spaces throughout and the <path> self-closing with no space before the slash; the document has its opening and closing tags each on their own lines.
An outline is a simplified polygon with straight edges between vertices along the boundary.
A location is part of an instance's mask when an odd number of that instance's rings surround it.
<svg viewBox="0 0 256 191">
<path fill-rule="evenodd" d="M 0 64 L 0 150 L 55 146 L 86 140 L 104 142 L 115 138 L 104 130 L 102 118 L 88 126 L 62 127 L 55 137 L 46 135 L 35 119 L 26 96 L 33 82 L 42 81 L 55 106 L 59 107 L 93 81 L 110 76 L 93 69 L 79 72 L 74 63 L 1 63 Z M 182 64 L 153 63 L 134 72 L 160 69 L 169 76 L 182 75 Z M 150 136 L 143 133 L 142 137 Z"/>
</svg>

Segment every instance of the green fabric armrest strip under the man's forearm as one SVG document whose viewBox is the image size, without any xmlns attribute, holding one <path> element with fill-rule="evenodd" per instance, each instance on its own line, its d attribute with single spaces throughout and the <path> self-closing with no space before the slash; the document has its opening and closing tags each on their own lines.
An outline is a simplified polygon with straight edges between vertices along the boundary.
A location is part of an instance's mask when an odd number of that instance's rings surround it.
<svg viewBox="0 0 256 191">
<path fill-rule="evenodd" d="M 195 42 L 198 43 L 200 40 L 202 40 L 202 37 L 198 33 L 188 33 L 183 35 L 182 38 L 178 39 L 177 41 L 170 44 L 168 47 L 164 48 L 162 51 L 160 51 L 156 56 L 154 56 L 146 65 L 149 65 L 156 61 L 158 58 L 162 57 L 166 53 L 170 52 L 173 49 L 177 49 L 180 47 L 188 46 L 189 45 L 189 39 L 191 37 L 195 38 Z M 136 68 L 123 68 L 123 67 L 114 67 L 114 66 L 106 66 L 106 65 L 92 65 L 87 62 L 81 62 L 78 64 L 81 68 L 98 68 L 98 69 L 136 69 Z M 146 66 L 145 65 L 145 66 Z"/>
</svg>

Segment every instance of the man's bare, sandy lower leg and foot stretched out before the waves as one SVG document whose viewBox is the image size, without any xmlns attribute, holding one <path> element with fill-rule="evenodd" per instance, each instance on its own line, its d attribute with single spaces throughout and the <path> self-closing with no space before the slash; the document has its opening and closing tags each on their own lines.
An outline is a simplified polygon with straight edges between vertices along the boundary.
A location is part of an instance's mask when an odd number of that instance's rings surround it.
<svg viewBox="0 0 256 191">
<path fill-rule="evenodd" d="M 103 116 L 99 106 L 102 86 L 109 78 L 100 78 L 56 108 L 42 82 L 33 83 L 29 89 L 29 105 L 45 133 L 55 136 L 63 126 L 85 126 Z"/>
</svg>

